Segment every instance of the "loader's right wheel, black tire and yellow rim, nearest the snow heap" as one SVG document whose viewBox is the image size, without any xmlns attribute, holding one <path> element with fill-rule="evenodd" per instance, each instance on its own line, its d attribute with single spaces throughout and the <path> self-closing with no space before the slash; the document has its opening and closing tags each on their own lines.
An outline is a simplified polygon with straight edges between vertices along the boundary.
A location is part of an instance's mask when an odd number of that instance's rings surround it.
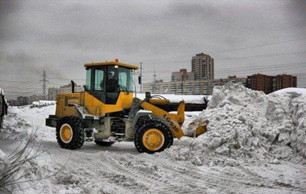
<svg viewBox="0 0 306 194">
<path fill-rule="evenodd" d="M 146 120 L 134 134 L 134 144 L 138 152 L 154 154 L 170 148 L 173 134 L 160 120 Z"/>
</svg>

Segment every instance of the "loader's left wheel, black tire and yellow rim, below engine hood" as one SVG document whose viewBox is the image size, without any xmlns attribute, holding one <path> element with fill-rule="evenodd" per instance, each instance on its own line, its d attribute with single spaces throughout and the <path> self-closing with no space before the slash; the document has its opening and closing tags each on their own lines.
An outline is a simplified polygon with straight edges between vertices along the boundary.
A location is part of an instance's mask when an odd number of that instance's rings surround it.
<svg viewBox="0 0 306 194">
<path fill-rule="evenodd" d="M 84 143 L 84 126 L 76 116 L 64 116 L 56 127 L 56 138 L 61 148 L 76 150 Z"/>
</svg>

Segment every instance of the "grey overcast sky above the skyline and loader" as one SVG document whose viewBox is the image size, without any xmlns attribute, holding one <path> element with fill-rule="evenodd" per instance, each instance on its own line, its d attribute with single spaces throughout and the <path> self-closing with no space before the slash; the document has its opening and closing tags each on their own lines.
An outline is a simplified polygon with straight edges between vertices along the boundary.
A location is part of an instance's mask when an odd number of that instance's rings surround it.
<svg viewBox="0 0 306 194">
<path fill-rule="evenodd" d="M 306 86 L 305 1 L 1 1 L 0 5 L 0 87 L 11 96 L 41 93 L 43 70 L 48 86 L 71 79 L 84 84 L 85 63 L 115 58 L 135 65 L 143 62 L 145 82 L 152 81 L 154 70 L 158 79 L 169 81 L 171 71 L 190 70 L 191 57 L 201 52 L 215 59 L 217 79 L 284 71 L 297 75 L 300 87 Z M 35 79 L 27 85 L 18 83 Z"/>
</svg>

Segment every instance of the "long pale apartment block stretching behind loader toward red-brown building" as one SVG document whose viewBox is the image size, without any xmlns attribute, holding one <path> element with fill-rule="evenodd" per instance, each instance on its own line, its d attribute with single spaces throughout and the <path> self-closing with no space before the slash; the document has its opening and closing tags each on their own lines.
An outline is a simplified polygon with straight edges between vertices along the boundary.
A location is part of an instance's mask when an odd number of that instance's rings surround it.
<svg viewBox="0 0 306 194">
<path fill-rule="evenodd" d="M 149 82 L 143 84 L 143 91 L 160 94 L 211 95 L 214 86 L 222 86 L 227 82 L 241 82 L 246 86 L 246 78 L 220 80 L 189 80 L 176 82 Z"/>
</svg>

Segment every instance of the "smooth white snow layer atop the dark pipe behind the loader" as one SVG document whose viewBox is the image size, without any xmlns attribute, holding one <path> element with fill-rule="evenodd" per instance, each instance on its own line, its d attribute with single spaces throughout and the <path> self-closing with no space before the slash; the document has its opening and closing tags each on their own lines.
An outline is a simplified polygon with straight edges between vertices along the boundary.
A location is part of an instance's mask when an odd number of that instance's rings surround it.
<svg viewBox="0 0 306 194">
<path fill-rule="evenodd" d="M 205 103 L 204 98 L 208 101 L 211 99 L 211 95 L 174 95 L 174 94 L 151 94 L 153 95 L 161 95 L 165 99 L 168 99 L 170 103 L 180 103 L 181 101 L 185 101 L 188 104 L 203 104 Z M 134 93 L 135 96 L 135 93 Z M 137 93 L 136 97 L 139 99 L 145 99 L 144 93 Z"/>
</svg>

